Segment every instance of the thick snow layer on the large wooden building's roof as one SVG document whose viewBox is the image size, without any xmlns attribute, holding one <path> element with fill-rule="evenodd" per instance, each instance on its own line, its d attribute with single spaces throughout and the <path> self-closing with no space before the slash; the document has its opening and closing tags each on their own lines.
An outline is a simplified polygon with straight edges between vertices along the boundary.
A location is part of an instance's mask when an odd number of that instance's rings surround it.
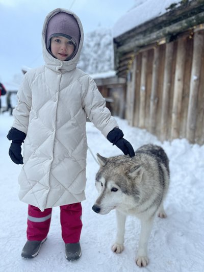
<svg viewBox="0 0 204 272">
<path fill-rule="evenodd" d="M 137 6 L 134 6 L 114 24 L 113 37 L 116 38 L 146 21 L 163 15 L 171 4 L 180 2 L 181 0 L 140 0 Z"/>
</svg>

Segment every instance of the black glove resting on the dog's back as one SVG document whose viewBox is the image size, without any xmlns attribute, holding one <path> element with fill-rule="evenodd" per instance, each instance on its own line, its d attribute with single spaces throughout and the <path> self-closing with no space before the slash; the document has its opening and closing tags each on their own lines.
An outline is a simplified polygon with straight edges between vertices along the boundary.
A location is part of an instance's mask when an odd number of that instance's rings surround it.
<svg viewBox="0 0 204 272">
<path fill-rule="evenodd" d="M 119 128 L 114 128 L 107 135 L 107 139 L 115 144 L 124 155 L 129 155 L 130 157 L 135 156 L 135 152 L 131 143 L 123 138 L 124 134 Z"/>
</svg>

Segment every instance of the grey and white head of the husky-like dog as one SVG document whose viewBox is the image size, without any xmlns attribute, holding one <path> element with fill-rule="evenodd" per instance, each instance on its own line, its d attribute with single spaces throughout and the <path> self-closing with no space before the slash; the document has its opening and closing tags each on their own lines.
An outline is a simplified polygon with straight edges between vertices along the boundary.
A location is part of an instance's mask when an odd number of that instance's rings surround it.
<svg viewBox="0 0 204 272">
<path fill-rule="evenodd" d="M 125 203 L 135 205 L 139 199 L 138 185 L 143 168 L 133 163 L 133 158 L 116 156 L 105 158 L 97 154 L 100 168 L 96 174 L 95 186 L 98 198 L 93 205 L 94 212 L 107 214 L 113 209 L 125 209 Z"/>
</svg>

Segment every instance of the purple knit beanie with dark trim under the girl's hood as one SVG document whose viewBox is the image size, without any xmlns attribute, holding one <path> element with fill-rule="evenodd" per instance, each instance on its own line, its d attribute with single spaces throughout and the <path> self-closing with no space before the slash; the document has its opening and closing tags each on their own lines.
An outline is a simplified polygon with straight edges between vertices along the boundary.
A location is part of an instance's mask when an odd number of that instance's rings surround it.
<svg viewBox="0 0 204 272">
<path fill-rule="evenodd" d="M 51 53 L 50 39 L 55 36 L 66 37 L 74 43 L 75 49 L 69 58 L 72 59 L 77 54 L 81 37 L 79 24 L 73 15 L 66 12 L 59 12 L 49 19 L 45 37 L 46 48 L 49 53 Z"/>
</svg>

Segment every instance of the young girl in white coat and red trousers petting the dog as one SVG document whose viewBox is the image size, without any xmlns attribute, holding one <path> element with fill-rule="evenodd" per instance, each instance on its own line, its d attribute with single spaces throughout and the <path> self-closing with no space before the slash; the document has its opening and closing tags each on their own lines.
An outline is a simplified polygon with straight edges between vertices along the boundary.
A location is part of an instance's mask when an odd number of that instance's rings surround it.
<svg viewBox="0 0 204 272">
<path fill-rule="evenodd" d="M 13 127 L 7 137 L 12 140 L 12 161 L 23 164 L 19 199 L 29 204 L 28 240 L 21 253 L 24 258 L 39 253 L 55 206 L 61 210 L 67 260 L 81 256 L 87 116 L 125 155 L 135 155 L 94 81 L 76 68 L 83 39 L 77 15 L 65 9 L 50 12 L 42 31 L 45 65 L 25 74 L 17 94 Z"/>
</svg>

